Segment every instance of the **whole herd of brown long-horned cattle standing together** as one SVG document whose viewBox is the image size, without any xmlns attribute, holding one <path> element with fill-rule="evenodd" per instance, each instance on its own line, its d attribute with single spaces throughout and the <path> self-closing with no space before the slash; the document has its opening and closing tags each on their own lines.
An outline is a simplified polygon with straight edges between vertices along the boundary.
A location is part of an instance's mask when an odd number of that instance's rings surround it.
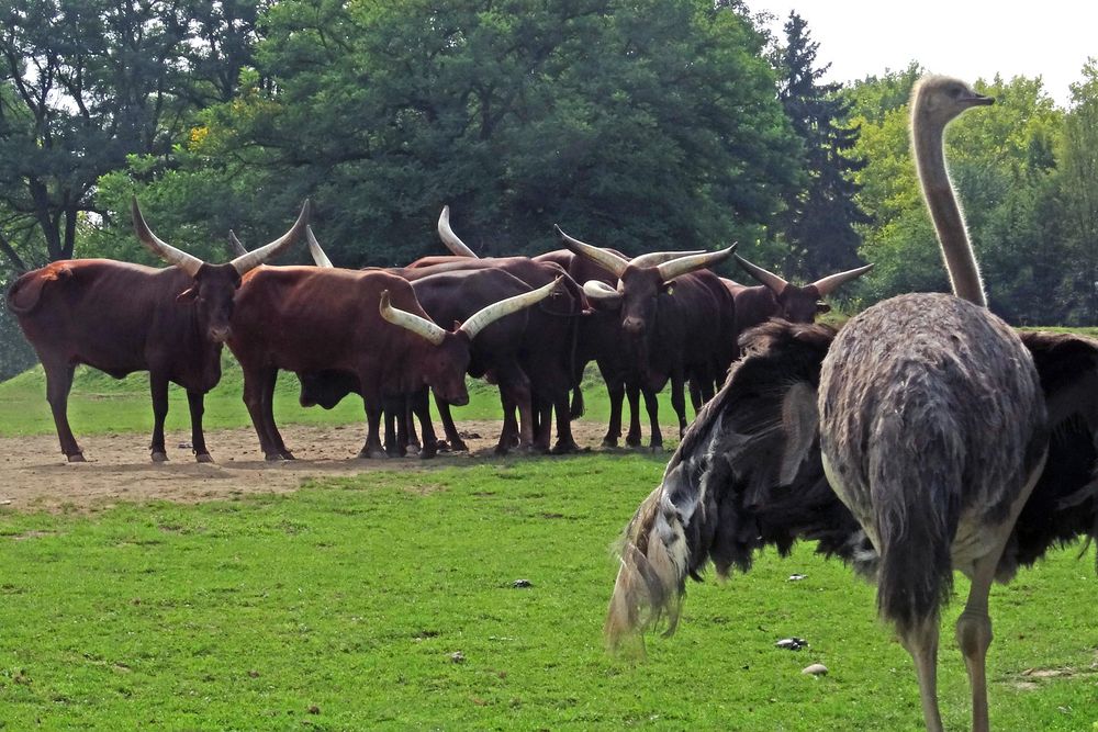
<svg viewBox="0 0 1098 732">
<path fill-rule="evenodd" d="M 203 398 L 221 378 L 226 344 L 243 369 L 244 402 L 267 460 L 293 459 L 274 423 L 279 370 L 299 376 L 303 406 L 330 408 L 351 392 L 362 397 L 368 431 L 360 458 L 403 453 L 415 444 L 413 418 L 421 424 L 419 454 L 432 457 L 438 440 L 428 388 L 447 441 L 461 449 L 449 405 L 468 402 L 467 373 L 498 385 L 498 452 L 549 451 L 553 415 L 553 451 L 578 449 L 570 421 L 583 410 L 580 379 L 591 361 L 609 392 L 603 444 L 617 444 L 625 396 L 631 413 L 626 443 L 640 444 L 643 395 L 650 444 L 659 449 L 656 395 L 669 381 L 682 432 L 684 390 L 688 385 L 695 410 L 710 398 L 739 354 L 741 333 L 772 317 L 813 322 L 827 308 L 822 297 L 872 267 L 797 286 L 736 257 L 761 282 L 747 286 L 708 269 L 732 256 L 735 245 L 630 259 L 560 228 L 563 249 L 482 259 L 453 234 L 444 209 L 438 232 L 451 255 L 402 268 L 347 270 L 324 256 L 309 215 L 306 201 L 289 232 L 254 251 L 231 237 L 237 256 L 212 264 L 157 238 L 135 200 L 137 238 L 170 267 L 76 259 L 15 281 L 8 306 L 45 370 L 46 398 L 70 462 L 83 460 L 67 417 L 81 363 L 115 378 L 149 372 L 156 462 L 167 459 L 168 383 L 182 386 L 195 457 L 211 461 Z M 266 264 L 302 238 L 315 267 Z"/>
</svg>

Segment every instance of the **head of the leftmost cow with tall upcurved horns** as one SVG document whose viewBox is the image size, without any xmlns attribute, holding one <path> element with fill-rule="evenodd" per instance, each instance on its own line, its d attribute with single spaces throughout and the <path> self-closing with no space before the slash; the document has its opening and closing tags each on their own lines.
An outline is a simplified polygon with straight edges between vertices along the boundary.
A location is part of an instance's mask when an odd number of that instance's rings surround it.
<svg viewBox="0 0 1098 732">
<path fill-rule="evenodd" d="M 134 230 L 141 243 L 160 259 L 187 272 L 193 280 L 190 288 L 176 296 L 176 301 L 192 304 L 200 328 L 210 340 L 221 344 L 232 333 L 233 300 L 244 273 L 281 254 L 301 236 L 309 223 L 310 205 L 306 200 L 296 223 L 281 237 L 255 251 L 240 255 L 226 264 L 210 264 L 157 238 L 145 223 L 136 196 L 131 209 Z"/>
</svg>

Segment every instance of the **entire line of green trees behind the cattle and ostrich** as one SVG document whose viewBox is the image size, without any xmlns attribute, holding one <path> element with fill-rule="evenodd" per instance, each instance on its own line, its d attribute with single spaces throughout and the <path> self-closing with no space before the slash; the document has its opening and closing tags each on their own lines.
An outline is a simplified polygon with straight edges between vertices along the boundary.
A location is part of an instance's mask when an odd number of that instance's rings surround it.
<svg viewBox="0 0 1098 732">
<path fill-rule="evenodd" d="M 742 0 L 0 1 L 0 284 L 70 257 L 223 260 L 303 198 L 337 264 L 717 248 L 791 279 L 864 261 L 851 307 L 944 290 L 907 133 L 917 63 L 850 85 L 805 22 Z M 993 309 L 1098 319 L 1098 68 L 1068 109 L 1039 78 L 950 140 Z M 302 257 L 301 261 L 304 261 Z M 728 274 L 738 277 L 731 271 Z M 740 277 L 742 279 L 742 277 Z M 0 317 L 0 375 L 27 363 Z"/>
</svg>

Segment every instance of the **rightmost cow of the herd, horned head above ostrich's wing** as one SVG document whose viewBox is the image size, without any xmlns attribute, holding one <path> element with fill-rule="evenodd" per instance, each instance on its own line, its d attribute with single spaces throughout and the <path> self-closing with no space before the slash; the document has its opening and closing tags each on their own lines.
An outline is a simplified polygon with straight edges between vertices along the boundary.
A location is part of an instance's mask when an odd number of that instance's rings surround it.
<svg viewBox="0 0 1098 732">
<path fill-rule="evenodd" d="M 762 283 L 749 286 L 732 280 L 724 280 L 728 291 L 736 300 L 737 335 L 746 333 L 748 328 L 765 323 L 772 317 L 778 317 L 789 323 L 814 323 L 817 315 L 831 309 L 830 305 L 821 302 L 824 297 L 873 269 L 873 264 L 866 264 L 831 274 L 811 284 L 798 286 L 786 282 L 773 272 L 768 272 L 763 268 L 752 264 L 739 255 L 736 255 L 736 261 L 751 277 Z"/>
</svg>

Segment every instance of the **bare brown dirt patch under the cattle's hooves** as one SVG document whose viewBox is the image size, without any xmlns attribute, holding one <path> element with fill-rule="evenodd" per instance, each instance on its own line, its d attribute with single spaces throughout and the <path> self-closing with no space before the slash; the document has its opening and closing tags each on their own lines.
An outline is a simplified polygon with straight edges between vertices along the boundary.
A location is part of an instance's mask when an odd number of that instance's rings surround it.
<svg viewBox="0 0 1098 732">
<path fill-rule="evenodd" d="M 287 493 L 317 476 L 468 465 L 495 459 L 492 450 L 500 427 L 493 421 L 459 423 L 462 432 L 480 436 L 466 440 L 470 452 L 442 453 L 426 461 L 411 457 L 357 459 L 365 439 L 365 427 L 358 425 L 280 427 L 299 459 L 272 463 L 264 460 L 250 427 L 206 433 L 215 463 L 194 462 L 189 448 L 176 447 L 189 435 L 169 435 L 169 461 L 159 464 L 149 460 L 143 447 L 147 435 L 77 436 L 88 460 L 85 463 L 66 462 L 52 433 L 0 438 L 0 506 L 9 510 L 86 510 L 120 502 L 194 503 L 249 493 Z M 575 440 L 583 447 L 598 446 L 605 430 L 598 423 L 572 423 Z"/>
</svg>

